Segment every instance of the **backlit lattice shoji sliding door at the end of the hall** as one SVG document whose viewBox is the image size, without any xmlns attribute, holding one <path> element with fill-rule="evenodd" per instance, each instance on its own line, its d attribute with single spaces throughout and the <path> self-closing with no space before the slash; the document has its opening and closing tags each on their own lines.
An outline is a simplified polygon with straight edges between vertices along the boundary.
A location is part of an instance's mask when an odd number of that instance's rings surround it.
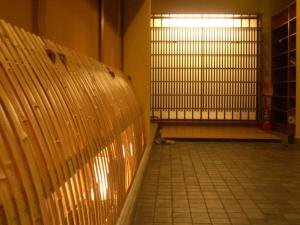
<svg viewBox="0 0 300 225">
<path fill-rule="evenodd" d="M 151 115 L 257 120 L 260 15 L 153 15 Z"/>
</svg>

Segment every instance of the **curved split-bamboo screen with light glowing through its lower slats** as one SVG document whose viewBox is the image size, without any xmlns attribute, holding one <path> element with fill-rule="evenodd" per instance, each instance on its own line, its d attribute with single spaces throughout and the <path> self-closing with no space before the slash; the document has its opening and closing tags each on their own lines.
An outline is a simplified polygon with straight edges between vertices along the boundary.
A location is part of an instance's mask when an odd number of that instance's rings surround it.
<svg viewBox="0 0 300 225">
<path fill-rule="evenodd" d="M 0 22 L 0 224 L 114 224 L 144 151 L 128 79 Z"/>
</svg>

